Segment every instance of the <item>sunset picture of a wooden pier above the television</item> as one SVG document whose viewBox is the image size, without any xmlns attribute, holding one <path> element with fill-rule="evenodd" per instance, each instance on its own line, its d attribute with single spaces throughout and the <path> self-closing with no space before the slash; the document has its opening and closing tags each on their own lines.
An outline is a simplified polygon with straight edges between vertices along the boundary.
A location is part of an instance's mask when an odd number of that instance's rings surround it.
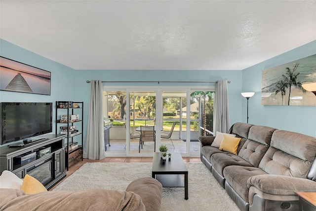
<svg viewBox="0 0 316 211">
<path fill-rule="evenodd" d="M 50 95 L 51 73 L 0 56 L 0 90 Z"/>
</svg>

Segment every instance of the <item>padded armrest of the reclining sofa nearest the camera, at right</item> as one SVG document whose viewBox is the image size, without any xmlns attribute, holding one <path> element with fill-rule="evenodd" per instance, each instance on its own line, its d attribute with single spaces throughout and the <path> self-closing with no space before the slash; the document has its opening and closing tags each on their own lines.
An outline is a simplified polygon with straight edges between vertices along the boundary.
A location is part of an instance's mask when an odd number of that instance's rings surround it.
<svg viewBox="0 0 316 211">
<path fill-rule="evenodd" d="M 295 195 L 295 191 L 315 191 L 316 182 L 310 179 L 283 175 L 256 175 L 247 180 L 247 186 L 273 195 Z"/>
</svg>

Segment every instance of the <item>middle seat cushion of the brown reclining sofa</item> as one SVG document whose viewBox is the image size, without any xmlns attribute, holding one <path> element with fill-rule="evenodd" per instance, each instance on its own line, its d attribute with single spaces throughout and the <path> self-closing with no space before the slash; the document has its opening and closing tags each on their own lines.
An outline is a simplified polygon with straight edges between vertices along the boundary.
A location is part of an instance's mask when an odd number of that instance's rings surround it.
<svg viewBox="0 0 316 211">
<path fill-rule="evenodd" d="M 237 155 L 233 154 L 224 154 L 224 153 L 216 153 L 211 156 L 210 159 L 213 168 L 221 175 L 223 175 L 223 170 L 226 166 L 230 165 L 241 165 L 241 166 L 250 166 L 253 165 L 246 160 L 240 158 Z"/>
</svg>

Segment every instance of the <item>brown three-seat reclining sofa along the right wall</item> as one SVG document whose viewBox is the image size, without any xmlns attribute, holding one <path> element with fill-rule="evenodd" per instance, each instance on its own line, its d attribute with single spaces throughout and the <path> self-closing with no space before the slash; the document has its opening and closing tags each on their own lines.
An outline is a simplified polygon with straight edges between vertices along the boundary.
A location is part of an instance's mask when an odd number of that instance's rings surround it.
<svg viewBox="0 0 316 211">
<path fill-rule="evenodd" d="M 201 136 L 201 161 L 241 211 L 298 211 L 295 191 L 316 191 L 316 138 L 275 128 L 235 123 L 237 155 Z"/>
</svg>

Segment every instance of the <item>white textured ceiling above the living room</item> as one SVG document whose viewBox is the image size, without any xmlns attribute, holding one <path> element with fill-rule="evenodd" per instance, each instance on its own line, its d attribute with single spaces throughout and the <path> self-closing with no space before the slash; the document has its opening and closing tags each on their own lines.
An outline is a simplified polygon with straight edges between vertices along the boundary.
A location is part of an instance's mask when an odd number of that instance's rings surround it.
<svg viewBox="0 0 316 211">
<path fill-rule="evenodd" d="M 74 69 L 240 70 L 316 40 L 316 0 L 0 0 L 0 38 Z"/>
</svg>

